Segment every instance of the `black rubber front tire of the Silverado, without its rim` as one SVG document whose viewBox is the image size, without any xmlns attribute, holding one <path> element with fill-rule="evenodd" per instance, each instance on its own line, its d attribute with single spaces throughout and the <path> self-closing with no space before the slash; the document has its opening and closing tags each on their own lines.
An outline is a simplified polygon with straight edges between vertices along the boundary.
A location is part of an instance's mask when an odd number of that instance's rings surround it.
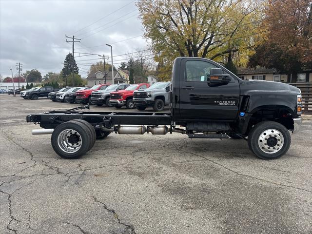
<svg viewBox="0 0 312 234">
<path fill-rule="evenodd" d="M 280 149 L 278 152 L 273 153 L 273 154 L 267 154 L 260 149 L 258 145 L 258 137 L 266 129 L 271 129 L 271 128 L 278 130 L 283 135 L 284 144 L 282 146 L 282 149 Z M 284 125 L 278 122 L 274 122 L 274 121 L 263 121 L 263 122 L 257 123 L 256 125 L 254 125 L 253 129 L 250 131 L 248 135 L 249 149 L 251 149 L 251 151 L 257 157 L 261 159 L 277 159 L 283 156 L 289 150 L 291 141 L 292 141 L 292 138 L 288 129 Z"/>
</svg>

